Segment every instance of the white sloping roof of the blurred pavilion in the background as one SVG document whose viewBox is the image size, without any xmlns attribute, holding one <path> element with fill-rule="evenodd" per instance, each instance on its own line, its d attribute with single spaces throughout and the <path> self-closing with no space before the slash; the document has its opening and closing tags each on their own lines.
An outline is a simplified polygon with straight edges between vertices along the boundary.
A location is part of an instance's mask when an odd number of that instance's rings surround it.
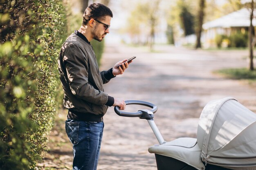
<svg viewBox="0 0 256 170">
<path fill-rule="evenodd" d="M 256 25 L 254 17 L 252 24 Z M 250 26 L 250 11 L 247 8 L 240 9 L 222 16 L 216 20 L 206 22 L 203 24 L 203 29 L 211 28 L 230 28 L 230 27 L 247 27 Z"/>
</svg>

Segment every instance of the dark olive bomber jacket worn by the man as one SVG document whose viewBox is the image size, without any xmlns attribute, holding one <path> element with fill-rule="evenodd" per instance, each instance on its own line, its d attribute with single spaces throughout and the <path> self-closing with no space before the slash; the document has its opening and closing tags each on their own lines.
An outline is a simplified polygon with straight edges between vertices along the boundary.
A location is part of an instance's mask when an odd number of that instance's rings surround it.
<svg viewBox="0 0 256 170">
<path fill-rule="evenodd" d="M 112 68 L 99 71 L 94 50 L 82 33 L 75 31 L 64 42 L 58 70 L 64 90 L 64 106 L 76 114 L 75 119 L 82 120 L 83 114 L 102 117 L 108 106 L 114 104 L 114 98 L 103 90 L 103 84 L 115 77 Z"/>
</svg>

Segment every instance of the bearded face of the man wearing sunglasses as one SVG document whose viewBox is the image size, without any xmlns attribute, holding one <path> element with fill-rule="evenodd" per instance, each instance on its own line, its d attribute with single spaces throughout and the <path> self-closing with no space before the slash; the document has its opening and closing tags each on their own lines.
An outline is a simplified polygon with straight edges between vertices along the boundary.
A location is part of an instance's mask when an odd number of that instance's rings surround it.
<svg viewBox="0 0 256 170">
<path fill-rule="evenodd" d="M 104 20 L 100 20 L 100 22 L 110 25 L 110 21 L 111 21 L 111 17 L 110 16 L 106 16 Z M 97 21 L 95 21 L 97 22 Z M 103 38 L 105 37 L 105 35 L 107 35 L 107 33 L 109 33 L 109 28 L 107 28 L 106 25 L 97 22 L 97 24 L 94 27 L 94 30 L 92 31 L 92 35 L 93 35 L 93 39 L 97 40 L 97 41 L 102 41 Z"/>
</svg>

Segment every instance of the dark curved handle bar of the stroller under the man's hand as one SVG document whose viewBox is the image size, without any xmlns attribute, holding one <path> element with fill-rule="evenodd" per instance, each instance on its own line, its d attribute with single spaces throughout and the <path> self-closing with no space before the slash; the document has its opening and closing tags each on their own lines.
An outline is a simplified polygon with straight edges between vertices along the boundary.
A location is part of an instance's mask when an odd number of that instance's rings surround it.
<svg viewBox="0 0 256 170">
<path fill-rule="evenodd" d="M 126 100 L 125 104 L 126 105 L 137 104 L 137 105 L 142 105 L 142 106 L 148 106 L 148 107 L 152 108 L 151 110 L 149 110 L 152 113 L 155 113 L 157 111 L 157 106 L 155 106 L 154 104 L 149 103 L 149 102 L 140 101 L 140 100 Z M 143 110 L 138 110 L 137 112 L 123 112 L 123 111 L 119 110 L 118 106 L 115 106 L 114 110 L 115 110 L 115 113 L 117 113 L 117 115 L 124 116 L 124 117 L 142 117 L 142 115 L 143 115 Z"/>
</svg>

